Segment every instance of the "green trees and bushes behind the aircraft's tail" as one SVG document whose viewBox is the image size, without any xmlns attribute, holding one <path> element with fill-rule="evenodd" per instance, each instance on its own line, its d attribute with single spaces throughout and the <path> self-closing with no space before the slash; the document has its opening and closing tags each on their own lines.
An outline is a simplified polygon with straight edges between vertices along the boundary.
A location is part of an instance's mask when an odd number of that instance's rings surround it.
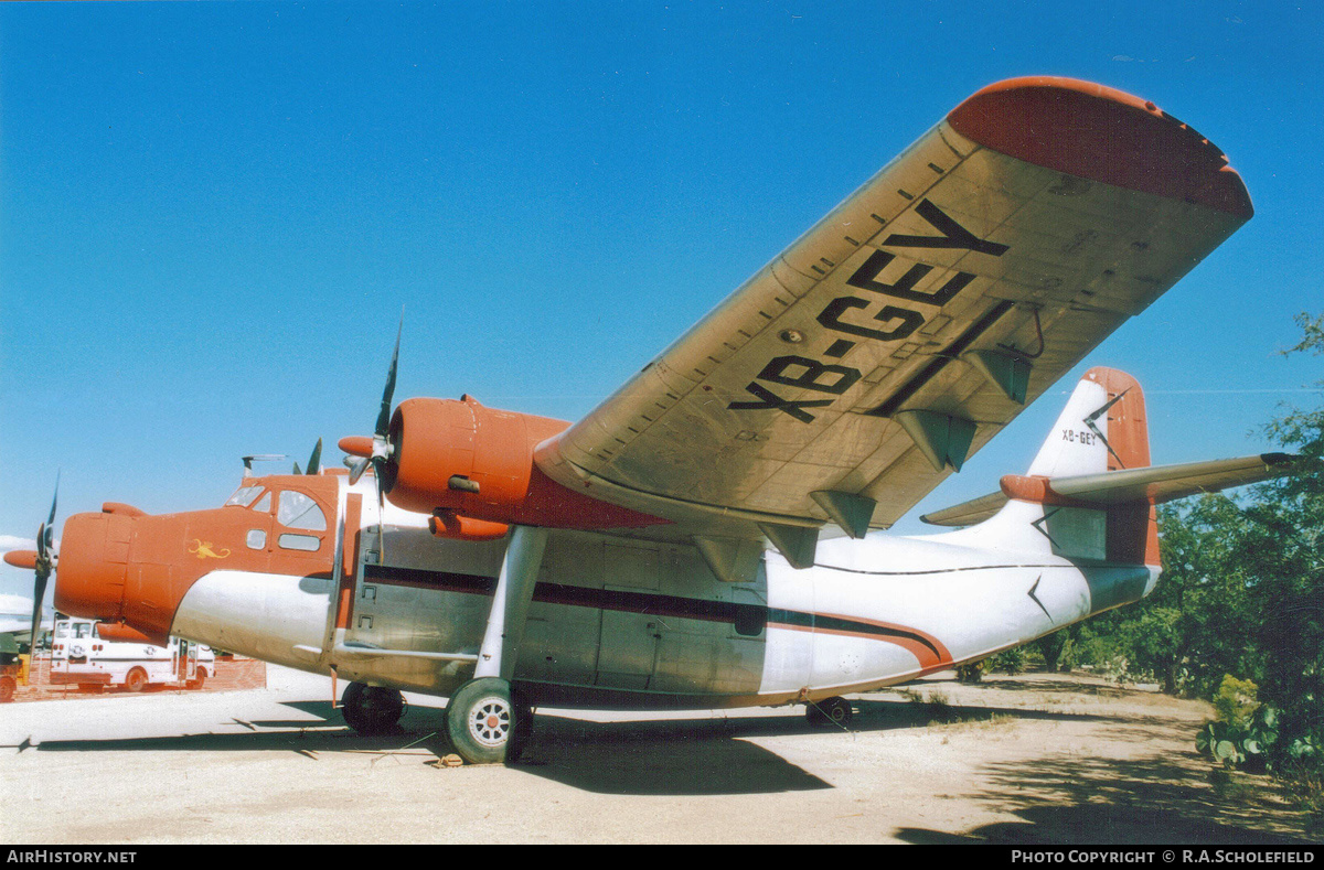
<svg viewBox="0 0 1324 870">
<path fill-rule="evenodd" d="M 1303 340 L 1284 353 L 1324 353 L 1324 315 L 1298 323 Z M 1301 469 L 1164 506 L 1153 595 L 1084 624 L 1072 654 L 1204 698 L 1225 674 L 1251 680 L 1283 711 L 1284 735 L 1324 744 L 1324 407 L 1291 409 L 1264 431 Z"/>
</svg>

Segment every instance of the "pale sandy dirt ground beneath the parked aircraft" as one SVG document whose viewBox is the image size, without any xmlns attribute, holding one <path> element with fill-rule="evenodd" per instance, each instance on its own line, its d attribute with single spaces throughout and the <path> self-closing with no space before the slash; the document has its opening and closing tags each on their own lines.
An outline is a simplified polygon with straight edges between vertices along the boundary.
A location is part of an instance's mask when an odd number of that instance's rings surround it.
<svg viewBox="0 0 1324 870">
<path fill-rule="evenodd" d="M 343 684 L 342 684 L 343 688 Z M 1206 705 L 1080 674 L 925 680 L 800 707 L 540 710 L 512 767 L 445 767 L 442 702 L 363 738 L 330 681 L 0 709 L 0 836 L 142 842 L 1309 842 L 1193 751 Z"/>
</svg>

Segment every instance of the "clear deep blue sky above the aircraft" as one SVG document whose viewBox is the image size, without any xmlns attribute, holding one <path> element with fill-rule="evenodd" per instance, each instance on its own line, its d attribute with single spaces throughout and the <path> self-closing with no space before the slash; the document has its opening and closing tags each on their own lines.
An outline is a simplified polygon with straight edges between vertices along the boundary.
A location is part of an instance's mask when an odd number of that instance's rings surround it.
<svg viewBox="0 0 1324 870">
<path fill-rule="evenodd" d="M 1321 38 L 1279 3 L 0 4 L 0 535 L 57 468 L 61 522 L 187 510 L 371 431 L 401 305 L 397 398 L 577 419 L 1029 74 L 1189 122 L 1256 217 L 922 509 L 1023 471 L 1088 365 L 1140 379 L 1158 463 L 1266 450 L 1324 368 L 1276 353 L 1324 311 Z"/>
</svg>

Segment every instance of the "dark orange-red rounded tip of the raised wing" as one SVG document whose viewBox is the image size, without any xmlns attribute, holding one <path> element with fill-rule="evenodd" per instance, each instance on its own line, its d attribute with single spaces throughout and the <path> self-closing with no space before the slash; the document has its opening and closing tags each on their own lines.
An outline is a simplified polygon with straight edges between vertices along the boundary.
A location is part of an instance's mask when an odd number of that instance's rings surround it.
<svg viewBox="0 0 1324 870">
<path fill-rule="evenodd" d="M 1217 145 L 1151 102 L 1074 78 L 1012 78 L 948 114 L 986 148 L 1057 172 L 1182 200 L 1243 221 L 1255 213 Z"/>
</svg>

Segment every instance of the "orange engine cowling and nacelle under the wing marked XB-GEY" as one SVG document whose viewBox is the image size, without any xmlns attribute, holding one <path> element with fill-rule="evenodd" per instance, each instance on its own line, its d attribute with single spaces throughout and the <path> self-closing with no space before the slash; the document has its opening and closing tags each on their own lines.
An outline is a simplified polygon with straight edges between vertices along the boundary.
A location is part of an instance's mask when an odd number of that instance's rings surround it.
<svg viewBox="0 0 1324 870">
<path fill-rule="evenodd" d="M 462 529 L 462 518 L 565 529 L 663 522 L 567 489 L 538 469 L 534 448 L 568 426 L 469 395 L 406 399 L 391 418 L 393 454 L 381 483 L 400 508 L 441 517 L 436 530 L 445 537 L 499 537 L 491 526 Z"/>
</svg>

